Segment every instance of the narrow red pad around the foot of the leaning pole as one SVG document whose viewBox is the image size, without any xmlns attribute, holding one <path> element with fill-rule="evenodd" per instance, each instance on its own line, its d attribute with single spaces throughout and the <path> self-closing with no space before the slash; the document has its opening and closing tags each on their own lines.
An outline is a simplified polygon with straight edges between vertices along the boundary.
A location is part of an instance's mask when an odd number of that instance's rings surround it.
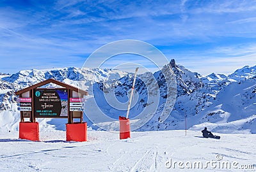
<svg viewBox="0 0 256 172">
<path fill-rule="evenodd" d="M 131 129 L 130 129 L 129 118 L 119 116 L 119 123 L 120 123 L 120 139 L 131 138 L 131 135 L 130 135 Z"/>
</svg>

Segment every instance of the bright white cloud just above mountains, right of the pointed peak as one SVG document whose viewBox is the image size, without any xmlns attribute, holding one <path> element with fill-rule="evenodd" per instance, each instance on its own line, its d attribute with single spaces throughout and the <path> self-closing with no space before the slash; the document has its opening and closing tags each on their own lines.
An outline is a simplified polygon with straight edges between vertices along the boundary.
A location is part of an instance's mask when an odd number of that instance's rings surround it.
<svg viewBox="0 0 256 172">
<path fill-rule="evenodd" d="M 256 66 L 256 45 L 218 47 L 200 52 L 200 55 L 181 55 L 177 60 L 182 66 L 202 75 L 209 75 L 212 72 L 229 75 L 243 66 Z"/>
</svg>

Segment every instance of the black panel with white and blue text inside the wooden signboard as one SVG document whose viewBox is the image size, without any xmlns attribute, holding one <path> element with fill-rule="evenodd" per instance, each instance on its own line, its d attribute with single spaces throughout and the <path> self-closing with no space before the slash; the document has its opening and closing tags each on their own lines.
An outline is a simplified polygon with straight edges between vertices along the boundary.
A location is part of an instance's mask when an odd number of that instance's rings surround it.
<svg viewBox="0 0 256 172">
<path fill-rule="evenodd" d="M 67 89 L 36 89 L 34 93 L 35 117 L 68 117 Z"/>
</svg>

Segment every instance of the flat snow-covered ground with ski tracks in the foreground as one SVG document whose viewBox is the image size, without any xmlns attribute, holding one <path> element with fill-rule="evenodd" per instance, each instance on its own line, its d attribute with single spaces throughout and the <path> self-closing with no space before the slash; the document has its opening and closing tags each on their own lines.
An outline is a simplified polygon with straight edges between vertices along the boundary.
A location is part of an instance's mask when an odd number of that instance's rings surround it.
<svg viewBox="0 0 256 172">
<path fill-rule="evenodd" d="M 1 171 L 256 169 L 255 134 L 218 134 L 221 139 L 215 140 L 202 138 L 200 131 L 187 131 L 187 136 L 183 130 L 149 131 L 119 140 L 118 133 L 88 131 L 86 142 L 67 142 L 65 131 L 56 130 L 40 132 L 40 142 L 19 140 L 18 135 L 0 133 Z"/>
</svg>

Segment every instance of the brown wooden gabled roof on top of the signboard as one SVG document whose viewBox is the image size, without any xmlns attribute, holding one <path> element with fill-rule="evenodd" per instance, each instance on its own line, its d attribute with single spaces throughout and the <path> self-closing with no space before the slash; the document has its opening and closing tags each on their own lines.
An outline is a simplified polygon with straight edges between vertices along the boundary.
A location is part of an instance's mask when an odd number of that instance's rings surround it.
<svg viewBox="0 0 256 172">
<path fill-rule="evenodd" d="M 19 90 L 19 91 L 15 92 L 15 95 L 17 96 L 17 95 L 22 94 L 24 92 L 28 92 L 29 90 L 36 89 L 38 87 L 42 87 L 43 85 L 46 85 L 47 83 L 55 83 L 56 85 L 60 85 L 61 87 L 65 87 L 66 89 L 70 89 L 70 90 L 74 90 L 76 92 L 79 92 L 79 93 L 83 94 L 84 96 L 88 95 L 87 91 L 78 89 L 77 87 L 74 87 L 72 85 L 68 85 L 67 83 L 59 82 L 58 80 L 54 80 L 52 78 L 48 79 L 48 80 L 45 80 L 43 82 L 40 82 L 40 83 L 36 83 L 35 85 L 31 85 L 30 87 L 26 87 L 25 89 Z"/>
</svg>

